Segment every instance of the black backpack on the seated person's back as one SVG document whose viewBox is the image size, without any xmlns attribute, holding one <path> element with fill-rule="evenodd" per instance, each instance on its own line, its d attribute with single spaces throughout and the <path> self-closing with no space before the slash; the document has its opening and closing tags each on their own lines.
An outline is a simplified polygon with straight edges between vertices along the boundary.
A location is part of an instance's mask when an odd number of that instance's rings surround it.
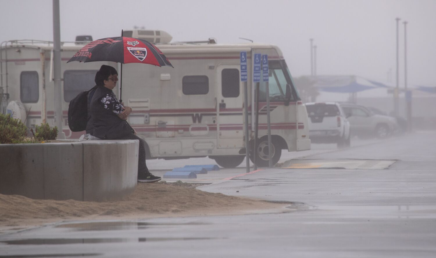
<svg viewBox="0 0 436 258">
<path fill-rule="evenodd" d="M 93 88 L 97 88 L 94 86 Z M 80 92 L 68 105 L 68 126 L 72 132 L 85 131 L 88 122 L 88 92 Z"/>
</svg>

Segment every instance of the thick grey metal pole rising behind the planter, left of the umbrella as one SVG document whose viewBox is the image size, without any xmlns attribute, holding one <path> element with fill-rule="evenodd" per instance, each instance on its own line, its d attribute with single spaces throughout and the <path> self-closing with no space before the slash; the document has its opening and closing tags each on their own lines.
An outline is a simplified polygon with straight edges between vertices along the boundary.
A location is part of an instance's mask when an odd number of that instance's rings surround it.
<svg viewBox="0 0 436 258">
<path fill-rule="evenodd" d="M 65 139 L 62 115 L 61 91 L 61 26 L 59 0 L 53 0 L 53 70 L 54 70 L 54 125 L 58 127 L 58 139 Z"/>
</svg>

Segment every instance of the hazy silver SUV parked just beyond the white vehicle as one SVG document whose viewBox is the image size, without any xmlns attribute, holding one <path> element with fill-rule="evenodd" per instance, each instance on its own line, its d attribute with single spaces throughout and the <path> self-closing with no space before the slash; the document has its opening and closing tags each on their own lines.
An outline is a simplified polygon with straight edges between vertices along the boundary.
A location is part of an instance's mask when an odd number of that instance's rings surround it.
<svg viewBox="0 0 436 258">
<path fill-rule="evenodd" d="M 392 116 L 378 115 L 365 106 L 352 103 L 340 105 L 350 121 L 351 135 L 357 135 L 360 138 L 368 136 L 386 138 L 399 127 Z"/>
</svg>

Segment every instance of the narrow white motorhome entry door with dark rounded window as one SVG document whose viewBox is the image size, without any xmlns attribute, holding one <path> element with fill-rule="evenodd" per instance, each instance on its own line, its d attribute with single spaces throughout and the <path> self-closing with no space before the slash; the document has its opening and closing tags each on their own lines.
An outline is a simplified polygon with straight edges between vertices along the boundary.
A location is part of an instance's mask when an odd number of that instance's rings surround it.
<svg viewBox="0 0 436 258">
<path fill-rule="evenodd" d="M 216 71 L 217 147 L 218 149 L 243 148 L 244 91 L 239 79 L 239 64 L 220 64 Z"/>
</svg>

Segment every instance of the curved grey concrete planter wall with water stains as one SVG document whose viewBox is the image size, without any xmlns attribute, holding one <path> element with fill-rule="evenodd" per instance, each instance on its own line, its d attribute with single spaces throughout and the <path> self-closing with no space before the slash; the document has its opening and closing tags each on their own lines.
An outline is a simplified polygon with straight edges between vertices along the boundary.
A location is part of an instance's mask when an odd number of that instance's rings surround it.
<svg viewBox="0 0 436 258">
<path fill-rule="evenodd" d="M 0 144 L 0 194 L 119 200 L 136 187 L 138 140 Z"/>
</svg>

